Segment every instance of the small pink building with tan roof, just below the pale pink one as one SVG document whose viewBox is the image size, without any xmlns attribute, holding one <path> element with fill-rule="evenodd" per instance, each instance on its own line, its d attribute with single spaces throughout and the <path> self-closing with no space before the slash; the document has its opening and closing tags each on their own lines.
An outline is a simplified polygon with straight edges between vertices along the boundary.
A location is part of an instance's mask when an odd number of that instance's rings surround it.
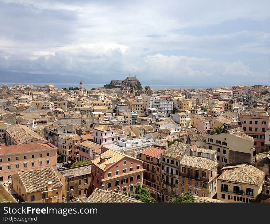
<svg viewBox="0 0 270 224">
<path fill-rule="evenodd" d="M 83 141 L 79 144 L 79 160 L 80 161 L 91 161 L 92 160 L 92 151 L 100 149 L 101 145 L 96 144 L 92 141 Z"/>
</svg>

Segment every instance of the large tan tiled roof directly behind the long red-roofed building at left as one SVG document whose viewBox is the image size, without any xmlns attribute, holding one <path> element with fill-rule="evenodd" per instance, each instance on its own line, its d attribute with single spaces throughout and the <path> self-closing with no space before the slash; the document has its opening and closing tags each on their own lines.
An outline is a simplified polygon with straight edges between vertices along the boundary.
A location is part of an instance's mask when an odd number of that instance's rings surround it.
<svg viewBox="0 0 270 224">
<path fill-rule="evenodd" d="M 37 138 L 39 140 L 47 142 L 46 139 L 42 138 L 37 133 L 24 125 L 11 125 L 6 129 L 6 132 L 10 134 L 10 136 L 14 139 L 15 142 L 20 141 L 20 144 L 30 141 L 33 138 Z"/>
</svg>

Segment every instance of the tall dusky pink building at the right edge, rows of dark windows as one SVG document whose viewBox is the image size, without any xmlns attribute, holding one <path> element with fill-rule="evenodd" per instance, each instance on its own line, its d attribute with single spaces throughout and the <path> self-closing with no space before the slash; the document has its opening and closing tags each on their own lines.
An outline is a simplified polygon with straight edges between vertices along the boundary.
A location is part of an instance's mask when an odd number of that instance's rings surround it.
<svg viewBox="0 0 270 224">
<path fill-rule="evenodd" d="M 242 112 L 240 121 L 244 133 L 254 138 L 254 148 L 256 152 L 264 149 L 265 130 L 268 129 L 269 114 L 262 112 Z"/>
</svg>

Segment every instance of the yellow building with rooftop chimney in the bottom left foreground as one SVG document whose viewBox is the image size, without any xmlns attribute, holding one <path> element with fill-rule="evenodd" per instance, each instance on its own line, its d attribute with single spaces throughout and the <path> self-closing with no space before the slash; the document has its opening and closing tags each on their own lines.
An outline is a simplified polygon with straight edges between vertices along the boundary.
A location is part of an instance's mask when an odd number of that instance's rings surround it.
<svg viewBox="0 0 270 224">
<path fill-rule="evenodd" d="M 60 179 L 52 167 L 12 175 L 13 190 L 25 202 L 62 202 Z"/>
</svg>

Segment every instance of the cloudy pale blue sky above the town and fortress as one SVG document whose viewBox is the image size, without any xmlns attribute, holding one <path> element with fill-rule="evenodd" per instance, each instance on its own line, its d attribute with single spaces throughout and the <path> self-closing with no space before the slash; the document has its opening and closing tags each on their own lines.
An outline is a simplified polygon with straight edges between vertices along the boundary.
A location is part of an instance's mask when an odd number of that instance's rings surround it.
<svg viewBox="0 0 270 224">
<path fill-rule="evenodd" d="M 0 70 L 270 84 L 269 1 L 0 0 Z M 100 77 L 100 80 L 96 80 Z"/>
</svg>

